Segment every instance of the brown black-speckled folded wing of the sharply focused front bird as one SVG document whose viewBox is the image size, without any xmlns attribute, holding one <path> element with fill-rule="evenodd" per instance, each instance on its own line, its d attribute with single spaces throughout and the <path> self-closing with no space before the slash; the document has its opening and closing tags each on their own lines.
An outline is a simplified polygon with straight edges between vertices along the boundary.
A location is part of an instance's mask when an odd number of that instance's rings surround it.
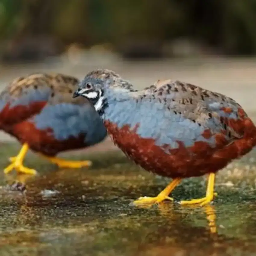
<svg viewBox="0 0 256 256">
<path fill-rule="evenodd" d="M 211 133 L 221 131 L 228 140 L 243 136 L 232 120 L 242 120 L 247 115 L 232 98 L 178 80 L 158 80 L 154 86 L 153 95 L 174 114 L 181 113 Z"/>
</svg>

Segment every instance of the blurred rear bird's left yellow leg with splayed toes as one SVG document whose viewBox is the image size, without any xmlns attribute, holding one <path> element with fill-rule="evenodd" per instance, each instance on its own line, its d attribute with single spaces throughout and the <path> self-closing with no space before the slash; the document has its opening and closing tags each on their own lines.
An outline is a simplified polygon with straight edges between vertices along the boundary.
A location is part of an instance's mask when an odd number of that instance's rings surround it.
<svg viewBox="0 0 256 256">
<path fill-rule="evenodd" d="M 30 175 L 35 175 L 36 170 L 23 166 L 23 160 L 24 160 L 28 150 L 29 150 L 28 144 L 24 143 L 22 148 L 20 149 L 19 154 L 16 157 L 10 158 L 10 161 L 12 163 L 4 169 L 4 173 L 7 174 L 7 173 L 11 172 L 13 169 L 15 169 L 17 171 L 17 173 L 27 173 Z"/>
</svg>

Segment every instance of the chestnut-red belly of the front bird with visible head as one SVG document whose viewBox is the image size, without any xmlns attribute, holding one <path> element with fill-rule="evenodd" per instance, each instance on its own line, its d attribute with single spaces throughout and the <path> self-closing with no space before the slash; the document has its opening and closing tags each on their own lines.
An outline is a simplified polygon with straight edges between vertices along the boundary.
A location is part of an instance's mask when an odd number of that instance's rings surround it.
<svg viewBox="0 0 256 256">
<path fill-rule="evenodd" d="M 195 141 L 186 147 L 176 141 L 177 148 L 156 145 L 153 138 L 142 138 L 136 131 L 139 123 L 119 128 L 117 124 L 104 121 L 113 142 L 136 164 L 145 170 L 171 178 L 188 178 L 216 173 L 229 162 L 240 158 L 256 145 L 256 127 L 250 119 L 243 121 L 243 136 L 227 140 L 223 133 L 215 134 L 215 146 L 204 141 Z"/>
</svg>

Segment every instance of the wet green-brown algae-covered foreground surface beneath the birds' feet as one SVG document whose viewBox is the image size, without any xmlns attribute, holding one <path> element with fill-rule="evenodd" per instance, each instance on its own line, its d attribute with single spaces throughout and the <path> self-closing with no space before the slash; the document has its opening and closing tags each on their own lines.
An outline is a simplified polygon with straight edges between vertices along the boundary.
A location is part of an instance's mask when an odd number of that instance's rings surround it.
<svg viewBox="0 0 256 256">
<path fill-rule="evenodd" d="M 0 166 L 19 146 L 2 143 Z M 66 153 L 89 159 L 89 169 L 58 170 L 30 153 L 33 178 L 1 175 L 0 255 L 255 255 L 256 151 L 217 174 L 214 203 L 185 207 L 164 202 L 151 208 L 129 203 L 154 196 L 169 180 L 131 163 L 120 151 Z M 7 184 L 26 181 L 27 192 Z M 205 177 L 184 180 L 177 199 L 205 193 Z"/>
</svg>

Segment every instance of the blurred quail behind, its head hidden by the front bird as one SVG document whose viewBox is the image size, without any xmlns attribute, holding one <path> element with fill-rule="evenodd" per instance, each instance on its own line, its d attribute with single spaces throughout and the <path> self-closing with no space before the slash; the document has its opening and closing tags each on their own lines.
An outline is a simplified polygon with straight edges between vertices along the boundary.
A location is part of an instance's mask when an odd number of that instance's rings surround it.
<svg viewBox="0 0 256 256">
<path fill-rule="evenodd" d="M 4 169 L 7 174 L 36 175 L 23 165 L 27 151 L 39 153 L 62 168 L 89 167 L 91 161 L 56 158 L 61 151 L 86 148 L 105 139 L 107 130 L 86 98 L 72 97 L 79 80 L 61 73 L 33 73 L 17 77 L 0 94 L 0 130 L 16 138 L 22 148 Z"/>
</svg>

